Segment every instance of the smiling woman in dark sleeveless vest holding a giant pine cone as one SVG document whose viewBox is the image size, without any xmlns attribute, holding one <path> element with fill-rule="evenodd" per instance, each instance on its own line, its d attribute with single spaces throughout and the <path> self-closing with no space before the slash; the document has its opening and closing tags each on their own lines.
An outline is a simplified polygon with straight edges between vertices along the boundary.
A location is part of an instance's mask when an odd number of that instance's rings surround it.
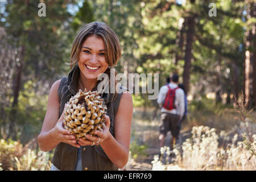
<svg viewBox="0 0 256 182">
<path fill-rule="evenodd" d="M 104 131 L 76 142 L 75 136 L 63 128 L 63 110 L 69 98 L 79 89 L 97 90 L 98 76 L 106 73 L 110 77 L 110 68 L 120 57 L 117 35 L 105 23 L 86 24 L 76 35 L 70 59 L 72 71 L 53 83 L 38 136 L 41 150 L 55 148 L 51 170 L 118 170 L 127 163 L 133 101 L 129 91 L 116 82 L 118 93 L 102 94 L 108 107 Z"/>
</svg>

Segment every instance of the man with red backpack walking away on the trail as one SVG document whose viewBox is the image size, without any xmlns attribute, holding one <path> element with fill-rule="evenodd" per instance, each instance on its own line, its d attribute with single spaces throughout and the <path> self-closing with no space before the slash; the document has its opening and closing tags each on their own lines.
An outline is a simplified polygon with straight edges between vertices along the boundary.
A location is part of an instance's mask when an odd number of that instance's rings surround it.
<svg viewBox="0 0 256 182">
<path fill-rule="evenodd" d="M 179 76 L 172 75 L 171 82 L 159 90 L 158 104 L 161 109 L 161 126 L 159 142 L 160 147 L 164 146 L 166 134 L 171 131 L 171 150 L 180 134 L 179 122 L 185 110 L 184 91 L 178 87 Z"/>
</svg>

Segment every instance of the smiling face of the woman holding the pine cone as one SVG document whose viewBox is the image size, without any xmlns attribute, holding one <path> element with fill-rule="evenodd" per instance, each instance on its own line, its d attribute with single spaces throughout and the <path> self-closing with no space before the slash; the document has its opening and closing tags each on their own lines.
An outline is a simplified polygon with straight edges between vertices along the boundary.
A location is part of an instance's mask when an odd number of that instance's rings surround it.
<svg viewBox="0 0 256 182">
<path fill-rule="evenodd" d="M 97 77 L 108 69 L 105 60 L 105 46 L 102 38 L 95 35 L 86 38 L 82 43 L 79 68 L 87 79 L 97 80 Z"/>
</svg>

